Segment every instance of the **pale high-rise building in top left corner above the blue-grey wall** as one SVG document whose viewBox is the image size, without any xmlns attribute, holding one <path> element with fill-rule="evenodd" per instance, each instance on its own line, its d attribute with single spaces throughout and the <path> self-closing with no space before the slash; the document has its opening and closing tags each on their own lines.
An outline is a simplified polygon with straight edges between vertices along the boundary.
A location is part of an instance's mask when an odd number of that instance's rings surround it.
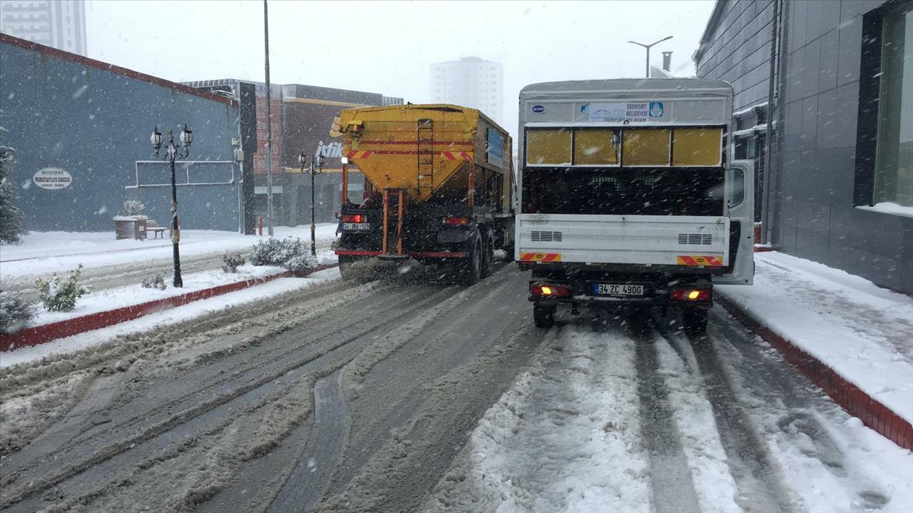
<svg viewBox="0 0 913 513">
<path fill-rule="evenodd" d="M 83 0 L 3 0 L 0 32 L 86 57 Z"/>
</svg>

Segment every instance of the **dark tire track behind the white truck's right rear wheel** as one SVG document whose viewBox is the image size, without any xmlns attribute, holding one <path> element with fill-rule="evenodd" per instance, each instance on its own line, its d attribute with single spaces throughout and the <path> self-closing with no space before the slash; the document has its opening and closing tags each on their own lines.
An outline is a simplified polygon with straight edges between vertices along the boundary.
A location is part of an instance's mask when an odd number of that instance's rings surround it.
<svg viewBox="0 0 913 513">
<path fill-rule="evenodd" d="M 661 323 L 655 325 L 673 347 L 690 347 L 693 351 L 707 387 L 730 474 L 739 488 L 736 502 L 749 513 L 792 511 L 790 501 L 781 487 L 781 479 L 771 466 L 770 455 L 742 410 L 739 398 L 732 391 L 729 377 L 721 368 L 713 343 L 703 335 L 687 338 L 682 332 L 668 330 Z"/>
</svg>

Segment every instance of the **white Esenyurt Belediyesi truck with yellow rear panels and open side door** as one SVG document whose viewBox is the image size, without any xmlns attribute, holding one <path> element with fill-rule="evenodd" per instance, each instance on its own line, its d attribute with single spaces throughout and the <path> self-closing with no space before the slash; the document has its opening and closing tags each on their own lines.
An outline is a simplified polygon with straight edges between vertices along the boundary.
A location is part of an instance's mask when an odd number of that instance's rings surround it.
<svg viewBox="0 0 913 513">
<path fill-rule="evenodd" d="M 559 305 L 681 309 L 754 276 L 754 177 L 730 158 L 732 86 L 711 79 L 532 84 L 519 93 L 514 257 L 539 327 Z"/>
</svg>

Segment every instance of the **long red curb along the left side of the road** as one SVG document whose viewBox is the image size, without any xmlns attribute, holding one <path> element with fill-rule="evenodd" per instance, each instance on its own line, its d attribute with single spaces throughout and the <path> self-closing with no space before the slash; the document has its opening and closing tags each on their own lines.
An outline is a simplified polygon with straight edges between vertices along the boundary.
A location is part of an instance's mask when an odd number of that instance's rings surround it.
<svg viewBox="0 0 913 513">
<path fill-rule="evenodd" d="M 18 330 L 15 333 L 2 333 L 0 334 L 0 351 L 37 346 L 51 340 L 71 337 L 86 331 L 100 330 L 101 328 L 107 328 L 108 326 L 120 324 L 121 322 L 126 322 L 128 320 L 139 319 L 151 313 L 158 313 L 165 309 L 172 309 L 194 301 L 213 298 L 244 288 L 262 285 L 279 277 L 306 277 L 311 273 L 336 267 L 337 265 L 338 264 L 328 264 L 318 266 L 309 269 L 306 273 L 299 274 L 296 274 L 293 271 L 284 271 L 267 277 L 256 277 L 244 281 L 236 281 L 235 283 L 227 283 L 226 285 L 219 285 L 217 287 L 194 290 L 193 292 L 181 294 L 180 296 L 173 296 L 171 298 L 155 299 L 138 305 L 121 307 L 120 309 L 100 311 L 73 319 L 59 320 L 58 322 L 51 322 L 42 324 L 41 326 Z"/>
</svg>

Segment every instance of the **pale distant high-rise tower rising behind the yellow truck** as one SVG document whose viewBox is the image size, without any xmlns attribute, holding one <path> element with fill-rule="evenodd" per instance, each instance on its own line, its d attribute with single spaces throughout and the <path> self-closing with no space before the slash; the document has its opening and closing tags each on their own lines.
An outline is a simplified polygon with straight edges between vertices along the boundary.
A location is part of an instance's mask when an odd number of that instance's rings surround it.
<svg viewBox="0 0 913 513">
<path fill-rule="evenodd" d="M 499 124 L 504 116 L 504 67 L 477 57 L 431 65 L 431 97 L 478 109 Z"/>
</svg>

